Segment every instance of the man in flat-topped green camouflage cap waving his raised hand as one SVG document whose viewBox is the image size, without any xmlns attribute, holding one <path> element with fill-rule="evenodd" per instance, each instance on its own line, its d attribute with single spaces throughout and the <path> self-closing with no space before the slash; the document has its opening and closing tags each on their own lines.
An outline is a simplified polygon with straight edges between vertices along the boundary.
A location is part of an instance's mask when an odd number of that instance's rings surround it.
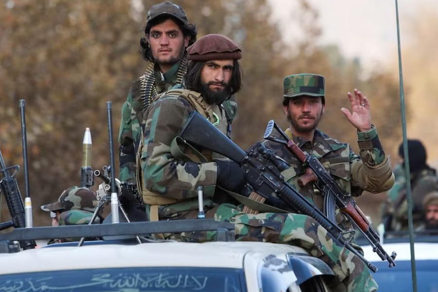
<svg viewBox="0 0 438 292">
<path fill-rule="evenodd" d="M 342 108 L 351 125 L 356 128 L 359 155 L 347 143 L 329 137 L 317 127 L 325 112 L 325 78 L 318 74 L 292 74 L 284 77 L 283 110 L 290 122 L 285 130 L 289 139 L 307 155 L 317 157 L 336 183 L 348 194 L 360 196 L 364 190 L 380 193 L 394 184 L 391 165 L 371 124 L 370 104 L 365 95 L 355 89 L 347 93 L 351 112 Z M 306 169 L 284 145 L 265 140 L 263 144 L 273 149 L 292 167 L 282 172 L 285 180 L 322 210 L 324 194 L 316 182 L 302 186 L 299 183 Z M 338 225 L 351 230 L 352 223 L 337 214 Z"/>
</svg>

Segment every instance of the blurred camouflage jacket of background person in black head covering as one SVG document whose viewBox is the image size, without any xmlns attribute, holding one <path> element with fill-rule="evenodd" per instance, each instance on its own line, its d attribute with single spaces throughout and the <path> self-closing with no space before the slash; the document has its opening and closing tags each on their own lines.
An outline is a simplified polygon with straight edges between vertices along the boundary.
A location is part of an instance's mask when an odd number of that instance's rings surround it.
<svg viewBox="0 0 438 292">
<path fill-rule="evenodd" d="M 391 229 L 402 231 L 408 229 L 406 176 L 402 164 L 394 168 L 396 175 L 394 186 L 388 191 L 388 199 L 384 206 L 385 215 L 393 215 Z M 418 173 L 410 174 L 412 194 L 412 216 L 414 228 L 420 226 L 424 219 L 423 199 L 431 191 L 438 190 L 438 177 L 435 169 L 427 167 Z"/>
</svg>

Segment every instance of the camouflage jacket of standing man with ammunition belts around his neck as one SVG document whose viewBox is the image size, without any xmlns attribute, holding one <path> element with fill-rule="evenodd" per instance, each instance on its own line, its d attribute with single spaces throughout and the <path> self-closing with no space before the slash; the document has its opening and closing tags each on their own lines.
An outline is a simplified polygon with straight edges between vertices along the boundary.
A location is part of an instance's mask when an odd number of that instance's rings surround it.
<svg viewBox="0 0 438 292">
<path fill-rule="evenodd" d="M 164 74 L 160 72 L 158 65 L 151 64 L 146 72 L 132 83 L 127 100 L 122 107 L 118 138 L 120 144 L 120 181 L 136 183 L 135 154 L 140 143 L 143 114 L 158 94 L 182 83 L 187 70 L 186 63 L 187 60 L 184 57 Z M 233 120 L 237 112 L 237 102 L 234 96 L 225 101 L 224 106 L 228 110 L 231 120 Z"/>
</svg>

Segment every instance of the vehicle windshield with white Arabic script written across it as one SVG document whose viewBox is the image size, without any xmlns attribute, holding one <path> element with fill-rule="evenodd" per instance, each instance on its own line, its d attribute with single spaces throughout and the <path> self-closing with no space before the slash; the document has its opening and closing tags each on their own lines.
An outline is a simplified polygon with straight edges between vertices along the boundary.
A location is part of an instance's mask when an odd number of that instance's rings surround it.
<svg viewBox="0 0 438 292">
<path fill-rule="evenodd" d="M 0 291 L 240 292 L 246 287 L 240 269 L 135 267 L 1 275 Z"/>
</svg>

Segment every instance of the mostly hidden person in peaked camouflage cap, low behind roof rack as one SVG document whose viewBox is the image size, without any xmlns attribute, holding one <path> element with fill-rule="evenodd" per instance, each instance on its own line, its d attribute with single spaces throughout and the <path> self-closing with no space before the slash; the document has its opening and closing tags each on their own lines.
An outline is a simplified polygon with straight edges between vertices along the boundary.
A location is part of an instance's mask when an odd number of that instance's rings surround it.
<svg viewBox="0 0 438 292">
<path fill-rule="evenodd" d="M 96 194 L 86 187 L 72 186 L 64 190 L 58 201 L 42 205 L 43 211 L 50 212 L 52 226 L 88 224 L 97 206 Z M 93 223 L 102 222 L 98 215 Z M 55 242 L 74 241 L 72 238 L 50 240 Z"/>
</svg>

